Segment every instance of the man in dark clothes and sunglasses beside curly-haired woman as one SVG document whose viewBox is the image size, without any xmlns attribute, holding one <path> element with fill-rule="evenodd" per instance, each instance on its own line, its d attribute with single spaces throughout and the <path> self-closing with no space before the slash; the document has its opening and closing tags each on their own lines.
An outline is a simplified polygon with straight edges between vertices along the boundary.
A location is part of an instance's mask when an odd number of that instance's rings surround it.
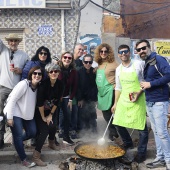
<svg viewBox="0 0 170 170">
<path fill-rule="evenodd" d="M 78 70 L 78 87 L 77 87 L 77 100 L 80 109 L 81 117 L 80 124 L 83 130 L 91 130 L 92 133 L 97 132 L 97 114 L 96 114 L 96 101 L 97 101 L 97 86 L 96 74 L 92 67 L 93 56 L 86 54 L 83 57 L 83 67 Z"/>
</svg>

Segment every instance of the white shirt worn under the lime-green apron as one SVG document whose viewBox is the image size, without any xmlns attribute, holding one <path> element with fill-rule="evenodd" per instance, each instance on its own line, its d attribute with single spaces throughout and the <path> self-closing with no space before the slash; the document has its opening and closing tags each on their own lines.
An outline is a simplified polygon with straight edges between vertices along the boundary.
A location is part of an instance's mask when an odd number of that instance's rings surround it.
<svg viewBox="0 0 170 170">
<path fill-rule="evenodd" d="M 134 67 L 133 67 L 133 65 L 134 65 Z M 135 71 L 136 71 L 137 76 L 138 76 L 138 80 L 139 80 L 139 82 L 141 82 L 141 81 L 144 81 L 144 78 L 143 78 L 144 65 L 145 65 L 145 62 L 140 61 L 140 60 L 131 61 L 131 63 L 127 67 L 120 64 L 116 68 L 116 87 L 115 87 L 115 90 L 119 90 L 119 91 L 122 90 L 122 86 L 120 84 L 120 79 L 119 79 L 121 67 L 122 67 L 123 72 L 133 72 L 134 68 L 135 68 Z"/>
</svg>

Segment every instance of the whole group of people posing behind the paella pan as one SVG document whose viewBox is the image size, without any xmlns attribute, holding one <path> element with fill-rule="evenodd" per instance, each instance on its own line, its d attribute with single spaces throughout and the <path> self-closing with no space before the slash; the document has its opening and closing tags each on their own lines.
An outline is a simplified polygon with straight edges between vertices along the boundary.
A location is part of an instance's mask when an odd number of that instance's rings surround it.
<svg viewBox="0 0 170 170">
<path fill-rule="evenodd" d="M 16 151 L 27 167 L 46 166 L 40 158 L 48 146 L 57 150 L 55 134 L 63 143 L 74 144 L 78 130 L 97 132 L 96 102 L 109 124 L 109 139 L 121 137 L 124 149 L 133 148 L 126 128 L 139 131 L 138 152 L 134 160 L 146 160 L 149 116 L 156 142 L 156 158 L 146 166 L 170 170 L 170 135 L 167 130 L 170 66 L 166 59 L 151 51 L 147 40 L 136 43 L 141 60 L 131 60 L 130 47 L 118 47 L 119 65 L 109 44 L 102 43 L 94 57 L 83 55 L 77 44 L 53 61 L 47 47 L 41 46 L 29 60 L 18 49 L 17 34 L 6 37 L 9 48 L 0 40 L 0 148 L 4 146 L 5 120 L 11 128 Z M 98 64 L 92 67 L 93 60 Z M 143 60 L 143 61 L 142 61 Z M 33 161 L 27 159 L 24 140 L 35 139 Z"/>
</svg>

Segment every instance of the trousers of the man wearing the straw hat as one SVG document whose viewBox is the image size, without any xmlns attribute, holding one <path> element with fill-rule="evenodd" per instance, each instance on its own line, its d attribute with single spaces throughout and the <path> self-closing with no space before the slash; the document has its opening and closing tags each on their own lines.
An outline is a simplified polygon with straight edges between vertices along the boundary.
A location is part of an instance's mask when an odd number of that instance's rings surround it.
<svg viewBox="0 0 170 170">
<path fill-rule="evenodd" d="M 12 90 L 7 87 L 0 86 L 0 116 L 3 117 L 3 120 L 0 122 L 0 140 L 4 140 L 5 133 L 5 116 L 3 113 L 4 102 L 8 98 L 8 95 L 10 94 L 11 91 Z"/>
</svg>

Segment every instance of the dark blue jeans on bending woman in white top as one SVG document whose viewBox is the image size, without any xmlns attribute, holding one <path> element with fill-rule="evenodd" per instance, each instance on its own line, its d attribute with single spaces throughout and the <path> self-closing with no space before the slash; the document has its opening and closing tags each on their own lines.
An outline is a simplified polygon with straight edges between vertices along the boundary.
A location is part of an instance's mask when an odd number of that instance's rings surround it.
<svg viewBox="0 0 170 170">
<path fill-rule="evenodd" d="M 26 158 L 23 141 L 36 136 L 36 125 L 34 119 L 24 120 L 20 117 L 13 117 L 14 125 L 11 128 L 15 149 L 23 161 Z M 23 130 L 24 129 L 24 130 Z"/>
</svg>

